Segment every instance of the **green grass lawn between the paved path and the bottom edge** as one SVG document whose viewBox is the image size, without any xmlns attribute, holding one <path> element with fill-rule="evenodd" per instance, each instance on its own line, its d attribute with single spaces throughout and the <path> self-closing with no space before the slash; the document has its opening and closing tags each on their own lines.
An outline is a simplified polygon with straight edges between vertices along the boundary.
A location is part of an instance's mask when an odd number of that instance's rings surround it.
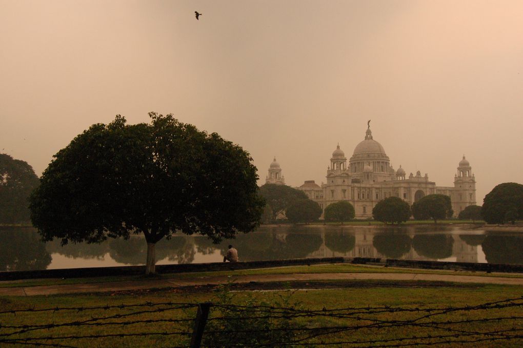
<svg viewBox="0 0 523 348">
<path fill-rule="evenodd" d="M 53 295 L 53 296 L 33 296 L 33 297 L 3 297 L 0 298 L 0 310 L 11 311 L 16 309 L 28 309 L 33 311 L 15 313 L 0 313 L 0 345 L 4 343 L 15 343 L 14 341 L 5 341 L 23 338 L 57 336 L 103 336 L 83 339 L 62 339 L 62 340 L 40 340 L 40 341 L 19 341 L 24 343 L 40 344 L 61 344 L 65 346 L 77 347 L 98 347 L 98 346 L 179 346 L 187 345 L 188 336 L 170 334 L 173 332 L 192 331 L 192 319 L 196 316 L 196 308 L 176 309 L 174 303 L 196 304 L 198 302 L 211 301 L 214 304 L 227 303 L 248 305 L 249 308 L 259 304 L 270 304 L 272 306 L 300 308 L 302 310 L 319 310 L 320 315 L 311 315 L 293 319 L 252 319 L 253 316 L 261 312 L 249 311 L 248 308 L 235 312 L 235 315 L 229 319 L 209 321 L 208 336 L 212 331 L 220 330 L 226 332 L 228 329 L 235 328 L 236 331 L 242 331 L 242 328 L 255 330 L 257 325 L 265 325 L 258 332 L 247 332 L 242 336 L 241 332 L 235 338 L 239 340 L 252 340 L 254 336 L 261 335 L 263 332 L 273 332 L 271 329 L 278 328 L 280 324 L 285 324 L 285 328 L 301 328 L 303 331 L 298 335 L 309 334 L 310 332 L 323 332 L 331 328 L 333 332 L 328 335 L 318 335 L 308 342 L 310 344 L 336 343 L 360 340 L 362 342 L 372 341 L 380 344 L 402 344 L 413 341 L 386 341 L 390 339 L 411 338 L 415 335 L 417 338 L 431 336 L 431 341 L 436 342 L 437 336 L 447 335 L 449 332 L 477 332 L 508 331 L 510 334 L 519 334 L 523 331 L 523 320 L 510 319 L 510 317 L 523 318 L 523 304 L 508 309 L 490 308 L 488 310 L 465 310 L 465 311 L 448 311 L 449 307 L 475 306 L 485 302 L 504 300 L 507 298 L 517 298 L 523 296 L 523 288 L 519 286 L 501 286 L 501 285 L 481 285 L 481 284 L 453 284 L 445 283 L 443 285 L 429 285 L 428 283 L 418 282 L 416 286 L 402 286 L 402 282 L 381 283 L 361 282 L 358 281 L 357 287 L 345 287 L 336 289 L 320 290 L 279 290 L 279 291 L 235 291 L 235 292 L 217 292 L 208 290 L 184 291 L 179 290 L 137 290 L 125 291 L 108 294 L 75 294 L 75 295 Z M 367 285 L 367 286 L 366 286 Z M 217 298 L 221 295 L 221 300 Z M 221 301 L 221 302 L 220 302 Z M 156 306 L 154 304 L 171 302 L 171 304 Z M 130 305 L 141 305 L 140 307 L 127 307 Z M 98 308 L 89 310 L 88 307 L 108 306 L 106 309 Z M 121 308 L 112 308 L 111 306 L 121 306 Z M 431 317 L 425 319 L 413 320 L 418 318 L 419 313 L 410 311 L 392 311 L 383 309 L 389 306 L 393 308 L 410 309 L 416 308 L 433 308 L 430 312 Z M 71 307 L 74 310 L 64 310 L 62 308 Z M 355 310 L 349 310 L 350 316 L 333 316 L 321 313 L 330 313 L 329 309 L 335 308 L 354 308 L 365 307 L 359 310 L 359 314 L 354 314 Z M 367 309 L 369 307 L 370 309 Z M 372 311 L 373 307 L 381 307 L 381 312 Z M 50 311 L 36 311 L 39 309 L 52 309 Z M 261 307 L 259 307 L 261 308 Z M 438 314 L 435 308 L 446 308 L 447 312 Z M 348 313 L 345 311 L 344 313 Z M 357 311 L 358 312 L 358 311 Z M 226 316 L 231 312 L 223 312 L 219 307 L 211 307 L 210 318 Z M 107 319 L 103 319 L 103 318 Z M 235 317 L 242 318 L 241 321 L 234 322 Z M 488 318 L 502 318 L 504 320 L 484 320 Z M 102 319 L 100 319 L 102 318 Z M 250 318 L 250 319 L 249 319 Z M 187 321 L 175 321 L 175 320 Z M 237 319 L 237 318 L 236 318 Z M 481 321 L 475 321 L 479 320 Z M 161 321 L 164 320 L 164 321 Z M 463 321 L 459 324 L 445 324 L 446 321 Z M 76 323 L 86 321 L 86 325 L 78 326 Z M 412 324 L 397 324 L 401 321 L 411 321 Z M 438 323 L 434 323 L 434 321 Z M 24 325 L 35 324 L 60 324 L 73 323 L 61 327 L 47 327 L 45 329 L 30 330 L 25 333 L 8 335 L 14 331 L 24 331 L 31 329 Z M 101 325 L 101 323 L 104 323 Z M 113 323 L 112 325 L 109 323 Z M 114 324 L 116 323 L 116 324 Z M 231 324 L 232 323 L 232 324 Z M 372 328 L 368 325 L 381 323 L 379 328 Z M 389 324 L 383 324 L 389 323 Z M 391 325 L 391 323 L 395 323 Z M 231 326 L 232 325 L 232 326 Z M 358 325 L 367 325 L 366 328 L 358 330 L 349 330 Z M 332 328 L 337 327 L 334 330 Z M 265 329 L 264 329 L 265 328 Z M 345 328 L 345 329 L 341 329 Z M 449 331 L 448 329 L 454 330 Z M 316 330 L 316 331 L 311 331 Z M 143 335 L 144 333 L 155 332 L 156 335 Z M 278 333 L 279 331 L 274 331 Z M 137 334 L 136 336 L 127 336 L 128 334 Z M 231 333 L 233 334 L 233 333 Z M 223 336 L 223 335 L 222 335 Z M 519 347 L 523 342 L 521 339 L 500 340 L 500 341 L 481 341 L 481 339 L 492 338 L 493 336 L 471 336 L 474 343 L 469 345 L 460 345 L 458 343 L 442 343 L 442 346 L 506 346 Z M 495 336 L 502 337 L 501 335 Z M 206 336 L 204 335 L 204 342 Z M 288 332 L 285 339 L 292 338 Z M 4 340 L 4 341 L 2 341 Z M 280 340 L 282 338 L 280 337 Z M 385 341 L 378 341 L 385 340 Z M 449 340 L 457 340 L 451 338 Z M 2 343 L 3 342 L 3 343 Z M 381 343 L 380 343 L 381 342 Z M 339 346 L 334 344 L 333 346 Z M 370 343 L 356 345 L 344 344 L 344 346 L 369 346 Z M 314 345 L 312 345 L 314 346 Z M 374 345 L 372 345 L 374 346 Z"/>
</svg>

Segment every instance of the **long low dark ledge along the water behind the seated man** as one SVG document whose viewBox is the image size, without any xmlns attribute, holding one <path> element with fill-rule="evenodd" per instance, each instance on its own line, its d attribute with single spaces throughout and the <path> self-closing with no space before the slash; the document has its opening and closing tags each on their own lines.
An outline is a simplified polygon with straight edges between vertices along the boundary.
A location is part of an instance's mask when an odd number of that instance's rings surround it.
<svg viewBox="0 0 523 348">
<path fill-rule="evenodd" d="M 159 274 L 185 273 L 185 272 L 209 272 L 209 271 L 231 271 L 246 270 L 248 268 L 268 268 L 293 265 L 311 265 L 322 263 L 343 263 L 343 257 L 321 257 L 314 259 L 289 259 L 269 261 L 245 261 L 245 262 L 213 262 L 213 263 L 189 263 L 156 265 Z M 86 267 L 86 268 L 62 268 L 59 270 L 39 271 L 11 271 L 0 272 L 0 280 L 37 279 L 37 278 L 88 278 L 125 275 L 143 275 L 145 266 L 117 266 L 117 267 Z"/>
</svg>

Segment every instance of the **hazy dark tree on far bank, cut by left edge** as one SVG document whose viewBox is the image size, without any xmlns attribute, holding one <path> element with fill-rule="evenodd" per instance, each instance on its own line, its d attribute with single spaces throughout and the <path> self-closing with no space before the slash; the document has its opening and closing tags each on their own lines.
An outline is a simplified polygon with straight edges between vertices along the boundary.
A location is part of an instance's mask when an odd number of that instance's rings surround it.
<svg viewBox="0 0 523 348">
<path fill-rule="evenodd" d="M 37 186 L 27 162 L 0 153 L 0 223 L 29 222 L 29 195 Z"/>
</svg>

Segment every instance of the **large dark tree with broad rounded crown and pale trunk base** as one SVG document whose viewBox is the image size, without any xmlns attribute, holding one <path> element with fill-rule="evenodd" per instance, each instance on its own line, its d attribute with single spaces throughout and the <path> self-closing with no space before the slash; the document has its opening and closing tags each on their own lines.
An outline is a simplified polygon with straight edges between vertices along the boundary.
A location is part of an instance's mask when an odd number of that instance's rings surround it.
<svg viewBox="0 0 523 348">
<path fill-rule="evenodd" d="M 143 233 L 146 274 L 155 244 L 176 231 L 215 242 L 259 225 L 264 206 L 256 167 L 240 146 L 149 114 L 127 125 L 117 115 L 54 155 L 31 196 L 31 220 L 44 240 L 88 243 Z"/>
</svg>

